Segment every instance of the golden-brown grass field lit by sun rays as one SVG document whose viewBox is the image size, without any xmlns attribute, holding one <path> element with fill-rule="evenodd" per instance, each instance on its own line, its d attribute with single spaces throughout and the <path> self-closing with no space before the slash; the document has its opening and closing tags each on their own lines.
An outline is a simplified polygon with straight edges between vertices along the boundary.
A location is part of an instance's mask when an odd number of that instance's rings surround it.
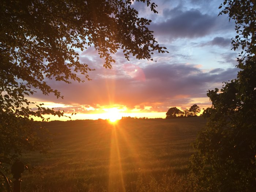
<svg viewBox="0 0 256 192">
<path fill-rule="evenodd" d="M 41 173 L 26 171 L 22 191 L 179 191 L 205 124 L 200 117 L 49 122 L 56 145 L 23 158 Z"/>
</svg>

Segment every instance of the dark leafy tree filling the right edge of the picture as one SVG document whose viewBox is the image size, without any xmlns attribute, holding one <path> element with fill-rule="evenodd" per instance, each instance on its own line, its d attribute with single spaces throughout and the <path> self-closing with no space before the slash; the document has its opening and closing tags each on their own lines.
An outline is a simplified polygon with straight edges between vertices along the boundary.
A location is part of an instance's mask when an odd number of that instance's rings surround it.
<svg viewBox="0 0 256 192">
<path fill-rule="evenodd" d="M 236 79 L 209 90 L 207 127 L 197 137 L 189 175 L 193 191 L 253 191 L 256 188 L 255 1 L 225 0 L 220 14 L 236 22 L 233 49 L 241 48 Z M 245 52 L 245 53 L 244 53 Z M 197 182 L 195 182 L 197 181 Z"/>
</svg>

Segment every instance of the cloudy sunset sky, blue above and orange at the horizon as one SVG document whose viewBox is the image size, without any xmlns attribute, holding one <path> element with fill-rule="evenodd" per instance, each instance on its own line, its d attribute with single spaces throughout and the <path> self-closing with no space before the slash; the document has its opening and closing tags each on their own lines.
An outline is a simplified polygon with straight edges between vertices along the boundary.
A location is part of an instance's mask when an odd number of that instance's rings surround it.
<svg viewBox="0 0 256 192">
<path fill-rule="evenodd" d="M 80 60 L 94 68 L 84 83 L 49 81 L 64 99 L 36 93 L 30 101 L 64 110 L 71 119 L 107 119 L 115 116 L 165 118 L 171 107 L 181 110 L 197 104 L 211 106 L 208 90 L 221 88 L 236 78 L 238 52 L 231 50 L 236 36 L 234 21 L 219 14 L 222 0 L 155 0 L 158 14 L 146 4 L 132 6 L 140 17 L 151 19 L 150 30 L 169 53 L 153 55 L 154 61 L 124 58 L 122 50 L 113 55 L 112 69 L 103 67 L 94 47 L 79 52 Z M 48 117 L 48 116 L 46 116 Z M 50 120 L 69 120 L 51 117 Z"/>
</svg>

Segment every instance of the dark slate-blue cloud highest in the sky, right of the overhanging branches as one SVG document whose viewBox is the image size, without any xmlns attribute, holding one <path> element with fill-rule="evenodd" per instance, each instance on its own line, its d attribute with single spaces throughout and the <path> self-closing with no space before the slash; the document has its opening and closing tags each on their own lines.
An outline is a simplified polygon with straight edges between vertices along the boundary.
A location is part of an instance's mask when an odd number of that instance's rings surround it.
<svg viewBox="0 0 256 192">
<path fill-rule="evenodd" d="M 203 37 L 212 32 L 216 19 L 215 16 L 202 14 L 199 10 L 192 9 L 177 12 L 165 22 L 153 23 L 150 29 L 156 35 L 169 35 L 171 39 Z"/>
</svg>

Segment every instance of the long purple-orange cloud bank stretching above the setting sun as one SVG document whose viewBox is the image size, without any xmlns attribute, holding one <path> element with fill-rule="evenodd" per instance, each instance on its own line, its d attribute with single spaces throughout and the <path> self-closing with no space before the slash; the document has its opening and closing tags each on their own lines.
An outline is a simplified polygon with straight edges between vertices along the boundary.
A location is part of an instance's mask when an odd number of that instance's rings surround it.
<svg viewBox="0 0 256 192">
<path fill-rule="evenodd" d="M 131 109 L 137 105 L 153 106 L 154 110 L 162 111 L 168 106 L 185 105 L 192 98 L 206 97 L 208 89 L 221 86 L 223 81 L 233 79 L 237 74 L 236 68 L 203 72 L 195 65 L 186 64 L 154 64 L 135 69 L 131 76 L 98 78 L 85 83 L 68 85 L 52 81 L 50 85 L 61 91 L 64 99 L 56 99 L 53 95 L 47 99 L 95 108 L 97 104 L 119 104 Z M 35 96 L 43 98 L 40 94 Z"/>
</svg>

